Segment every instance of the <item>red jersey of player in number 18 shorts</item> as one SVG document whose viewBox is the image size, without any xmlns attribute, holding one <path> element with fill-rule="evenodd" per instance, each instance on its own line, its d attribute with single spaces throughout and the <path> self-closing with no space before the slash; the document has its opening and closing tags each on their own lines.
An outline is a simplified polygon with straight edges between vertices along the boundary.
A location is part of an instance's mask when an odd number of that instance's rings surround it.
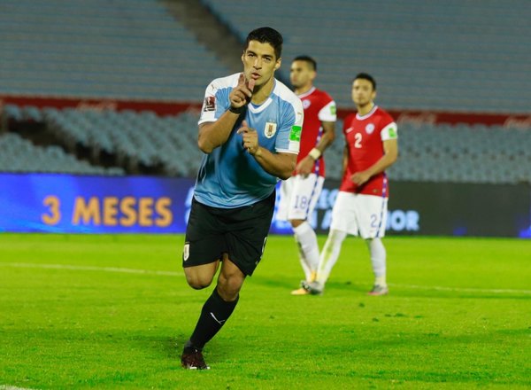
<svg viewBox="0 0 531 390">
<path fill-rule="evenodd" d="M 304 123 L 297 163 L 319 143 L 323 134 L 321 121 L 336 120 L 335 101 L 324 90 L 312 87 L 308 92 L 298 95 L 298 98 L 303 102 Z M 325 175 L 325 160 L 322 157 L 315 161 L 312 172 L 319 176 Z"/>
</svg>

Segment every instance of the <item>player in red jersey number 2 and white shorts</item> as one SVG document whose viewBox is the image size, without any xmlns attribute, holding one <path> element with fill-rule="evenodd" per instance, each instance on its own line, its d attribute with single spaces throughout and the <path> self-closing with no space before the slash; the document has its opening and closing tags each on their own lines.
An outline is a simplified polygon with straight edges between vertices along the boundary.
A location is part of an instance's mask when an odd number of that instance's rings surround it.
<svg viewBox="0 0 531 390">
<path fill-rule="evenodd" d="M 374 104 L 376 82 L 369 74 L 358 74 L 352 82 L 352 100 L 358 113 L 343 121 L 346 146 L 343 152 L 342 183 L 335 200 L 327 243 L 319 258 L 315 282 L 304 284 L 307 291 L 322 293 L 342 241 L 347 234 L 366 240 L 374 272 L 371 295 L 389 292 L 386 282 L 385 234 L 389 184 L 385 169 L 398 156 L 396 123 Z"/>
</svg>

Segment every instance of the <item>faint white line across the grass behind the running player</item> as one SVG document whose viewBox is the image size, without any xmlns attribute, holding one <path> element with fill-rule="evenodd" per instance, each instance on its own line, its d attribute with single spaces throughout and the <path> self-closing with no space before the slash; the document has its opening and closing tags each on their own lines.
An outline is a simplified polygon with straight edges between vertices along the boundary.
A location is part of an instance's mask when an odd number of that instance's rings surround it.
<svg viewBox="0 0 531 390">
<path fill-rule="evenodd" d="M 31 262 L 2 262 L 0 261 L 0 267 L 119 272 L 119 273 L 124 273 L 124 274 L 158 275 L 158 276 L 163 276 L 163 277 L 183 277 L 184 276 L 182 272 L 173 272 L 173 271 L 159 271 L 159 270 L 151 270 L 151 269 L 127 269 L 127 268 L 119 268 L 119 267 L 96 267 L 96 266 L 83 266 L 83 265 L 80 266 L 80 265 L 70 265 L 70 264 L 38 264 L 38 263 L 31 263 Z M 397 288 L 410 288 L 410 289 L 418 289 L 418 290 L 435 290 L 435 291 L 447 291 L 447 292 L 531 294 L 531 290 L 516 290 L 516 289 L 444 287 L 440 285 L 400 285 L 400 284 L 392 284 L 392 283 L 389 283 L 389 286 L 397 287 Z M 0 390 L 4 390 L 4 389 L 0 387 Z"/>
</svg>

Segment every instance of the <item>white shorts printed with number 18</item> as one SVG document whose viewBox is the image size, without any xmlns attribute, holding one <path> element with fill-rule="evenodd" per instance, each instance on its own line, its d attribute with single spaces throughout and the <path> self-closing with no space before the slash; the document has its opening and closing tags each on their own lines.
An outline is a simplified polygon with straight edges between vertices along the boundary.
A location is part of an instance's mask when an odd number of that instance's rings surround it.
<svg viewBox="0 0 531 390">
<path fill-rule="evenodd" d="M 306 220 L 312 214 L 325 178 L 310 174 L 295 175 L 281 183 L 281 200 L 276 219 L 280 221 Z"/>
</svg>

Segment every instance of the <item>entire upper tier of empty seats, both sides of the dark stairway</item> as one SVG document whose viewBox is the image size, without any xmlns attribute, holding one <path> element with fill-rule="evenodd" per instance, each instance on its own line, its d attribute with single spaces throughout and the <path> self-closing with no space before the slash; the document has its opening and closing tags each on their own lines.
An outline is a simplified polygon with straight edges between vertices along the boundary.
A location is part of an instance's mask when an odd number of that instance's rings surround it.
<svg viewBox="0 0 531 390">
<path fill-rule="evenodd" d="M 315 57 L 318 85 L 352 106 L 360 71 L 394 109 L 527 113 L 531 3 L 326 3 L 202 0 L 242 41 L 256 27 L 285 37 L 279 75 Z M 250 17 L 249 15 L 252 15 Z M 156 0 L 4 0 L 0 93 L 197 101 L 226 66 Z"/>
</svg>

